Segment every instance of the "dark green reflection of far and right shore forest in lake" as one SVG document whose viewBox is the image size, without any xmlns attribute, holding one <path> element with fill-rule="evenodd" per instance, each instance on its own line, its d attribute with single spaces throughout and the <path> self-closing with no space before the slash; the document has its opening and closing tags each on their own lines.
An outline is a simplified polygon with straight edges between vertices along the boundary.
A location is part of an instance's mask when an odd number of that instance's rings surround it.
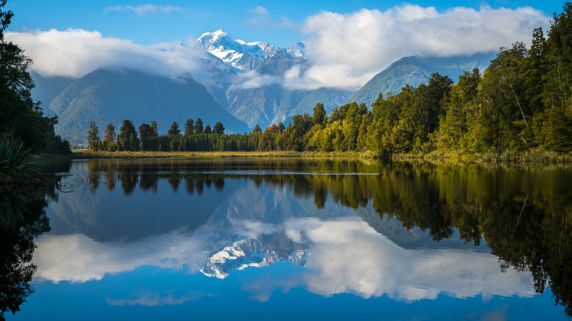
<svg viewBox="0 0 572 321">
<path fill-rule="evenodd" d="M 332 159 L 109 160 L 89 166 L 90 171 L 104 172 L 110 189 L 119 180 L 126 195 L 137 183 L 142 190 L 156 192 L 158 180 L 168 181 L 174 192 L 184 182 L 188 194 L 201 195 L 213 183 L 222 190 L 225 179 L 251 179 L 257 186 L 293 188 L 296 197 L 313 199 L 317 208 L 323 208 L 328 197 L 353 209 L 371 204 L 380 216 L 393 216 L 407 229 L 428 230 L 435 242 L 450 238 L 456 228 L 465 242 L 475 246 L 484 239 L 499 257 L 501 270 L 530 271 L 535 290 L 543 292 L 549 286 L 555 302 L 572 315 L 569 168 L 526 170 Z M 320 175 L 304 174 L 307 172 Z M 356 172 L 391 174 L 337 175 Z M 375 222 L 369 223 L 375 228 Z"/>
</svg>

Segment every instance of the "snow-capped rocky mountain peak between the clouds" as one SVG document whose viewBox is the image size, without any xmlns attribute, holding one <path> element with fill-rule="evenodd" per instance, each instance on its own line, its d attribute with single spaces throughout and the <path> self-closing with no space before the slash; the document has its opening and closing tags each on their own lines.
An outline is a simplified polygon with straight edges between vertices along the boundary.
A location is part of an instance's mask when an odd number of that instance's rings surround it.
<svg viewBox="0 0 572 321">
<path fill-rule="evenodd" d="M 292 58 L 305 58 L 303 41 L 286 48 L 279 48 L 268 42 L 245 42 L 232 39 L 223 30 L 204 33 L 193 47 L 202 47 L 223 62 L 243 71 L 257 69 L 277 53 L 287 53 Z"/>
</svg>

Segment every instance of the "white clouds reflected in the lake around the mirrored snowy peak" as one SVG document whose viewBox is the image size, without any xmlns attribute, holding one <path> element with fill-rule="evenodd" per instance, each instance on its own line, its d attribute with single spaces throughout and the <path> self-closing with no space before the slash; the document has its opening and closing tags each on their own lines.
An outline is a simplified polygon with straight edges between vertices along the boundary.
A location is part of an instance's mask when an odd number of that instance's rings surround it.
<svg viewBox="0 0 572 321">
<path fill-rule="evenodd" d="M 265 205 L 260 212 L 272 210 L 270 204 Z M 227 210 L 232 212 L 232 205 Z M 482 295 L 484 299 L 495 295 L 535 295 L 530 272 L 514 269 L 501 272 L 495 255 L 473 250 L 404 249 L 356 216 L 329 220 L 294 218 L 279 224 L 231 219 L 229 223 L 231 228 L 220 229 L 207 224 L 193 234 L 173 232 L 134 243 L 96 242 L 85 235 L 42 235 L 36 242 L 38 250 L 33 262 L 38 271 L 34 278 L 54 283 L 86 282 L 147 264 L 170 269 L 181 264 L 204 267 L 210 262 L 209 255 L 227 246 L 229 239 L 241 235 L 256 239 L 261 235 L 284 233 L 292 242 L 308 246 L 304 250 L 308 253 L 306 268 L 287 280 L 267 280 L 246 286 L 254 299 L 265 301 L 277 288 L 287 291 L 299 286 L 322 296 L 386 295 L 406 302 L 436 299 L 439 294 L 454 298 Z M 180 304 L 201 295 L 177 298 L 153 292 L 134 299 L 108 300 L 108 303 Z"/>
</svg>

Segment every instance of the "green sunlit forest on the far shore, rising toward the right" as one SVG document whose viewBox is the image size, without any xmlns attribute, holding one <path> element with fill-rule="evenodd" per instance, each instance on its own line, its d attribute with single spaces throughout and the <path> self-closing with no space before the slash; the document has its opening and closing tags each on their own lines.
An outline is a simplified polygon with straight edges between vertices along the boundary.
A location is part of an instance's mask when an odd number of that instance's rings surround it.
<svg viewBox="0 0 572 321">
<path fill-rule="evenodd" d="M 486 70 L 465 71 L 456 83 L 438 73 L 427 84 L 406 85 L 400 93 L 379 93 L 364 103 L 335 107 L 327 115 L 317 103 L 312 115 L 251 133 L 224 134 L 217 123 L 201 119 L 173 122 L 165 135 L 157 125 L 135 129 L 129 120 L 116 135 L 113 125 L 98 136 L 90 125 L 90 150 L 150 151 L 324 151 L 393 153 L 456 151 L 572 150 L 572 3 L 554 14 L 545 36 L 534 30 L 530 47 L 516 42 L 502 47 Z"/>
</svg>

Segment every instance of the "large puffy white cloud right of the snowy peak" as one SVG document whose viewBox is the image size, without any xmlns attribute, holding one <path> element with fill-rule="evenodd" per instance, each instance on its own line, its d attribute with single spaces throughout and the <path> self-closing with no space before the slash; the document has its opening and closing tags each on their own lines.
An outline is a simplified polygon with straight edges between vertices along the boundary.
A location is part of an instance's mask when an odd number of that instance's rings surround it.
<svg viewBox="0 0 572 321">
<path fill-rule="evenodd" d="M 302 27 L 312 66 L 285 84 L 356 89 L 402 57 L 496 51 L 515 41 L 530 42 L 533 29 L 549 22 L 548 15 L 531 7 L 454 7 L 439 12 L 402 5 L 351 14 L 322 11 L 308 17 Z"/>
</svg>

